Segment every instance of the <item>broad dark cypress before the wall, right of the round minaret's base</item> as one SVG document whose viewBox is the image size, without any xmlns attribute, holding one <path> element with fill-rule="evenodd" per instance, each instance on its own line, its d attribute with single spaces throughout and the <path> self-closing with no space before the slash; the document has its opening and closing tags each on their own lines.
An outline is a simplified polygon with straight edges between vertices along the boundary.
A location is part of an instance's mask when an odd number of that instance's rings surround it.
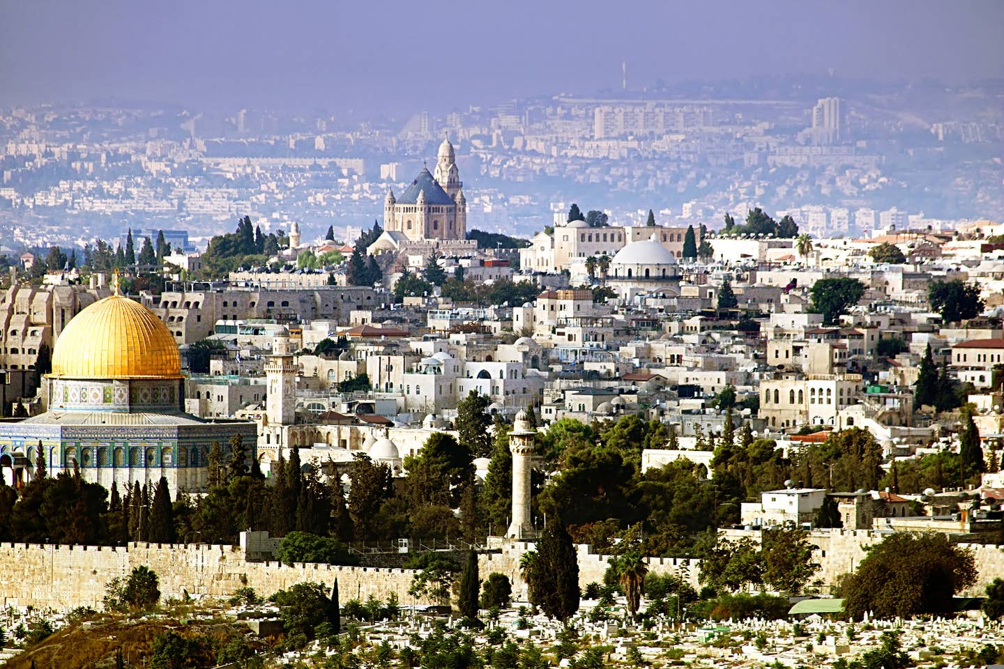
<svg viewBox="0 0 1004 669">
<path fill-rule="evenodd" d="M 578 611 L 578 558 L 567 530 L 552 521 L 537 545 L 530 602 L 548 618 L 568 620 Z"/>
</svg>

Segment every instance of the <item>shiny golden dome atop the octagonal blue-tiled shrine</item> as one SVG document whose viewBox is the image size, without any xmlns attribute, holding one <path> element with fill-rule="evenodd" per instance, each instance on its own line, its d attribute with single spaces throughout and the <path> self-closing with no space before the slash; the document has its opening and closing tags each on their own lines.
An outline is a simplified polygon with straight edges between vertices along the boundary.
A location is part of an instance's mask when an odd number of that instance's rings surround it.
<svg viewBox="0 0 1004 669">
<path fill-rule="evenodd" d="M 66 324 L 52 352 L 51 375 L 180 378 L 182 359 L 161 319 L 139 302 L 115 293 Z"/>
</svg>

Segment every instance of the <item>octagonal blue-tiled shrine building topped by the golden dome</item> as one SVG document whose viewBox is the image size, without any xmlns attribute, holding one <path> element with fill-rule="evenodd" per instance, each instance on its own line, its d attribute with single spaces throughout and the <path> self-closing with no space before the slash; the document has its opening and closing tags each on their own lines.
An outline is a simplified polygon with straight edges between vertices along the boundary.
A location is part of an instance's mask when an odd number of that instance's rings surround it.
<svg viewBox="0 0 1004 669">
<path fill-rule="evenodd" d="M 254 457 L 253 423 L 184 413 L 178 345 L 117 286 L 66 325 L 44 382 L 48 411 L 0 424 L 0 469 L 15 485 L 30 480 L 39 454 L 50 475 L 78 469 L 108 488 L 163 475 L 172 489 L 188 491 L 205 488 L 213 442 L 227 452 L 239 435 Z"/>
</svg>

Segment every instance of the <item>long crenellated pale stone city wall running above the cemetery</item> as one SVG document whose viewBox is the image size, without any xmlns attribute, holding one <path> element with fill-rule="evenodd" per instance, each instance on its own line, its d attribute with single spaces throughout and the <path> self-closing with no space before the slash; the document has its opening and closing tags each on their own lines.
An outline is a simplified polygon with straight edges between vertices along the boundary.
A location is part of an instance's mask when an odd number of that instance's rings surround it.
<svg viewBox="0 0 1004 669">
<path fill-rule="evenodd" d="M 813 531 L 810 541 L 818 547 L 817 578 L 834 585 L 853 571 L 866 556 L 865 548 L 881 542 L 883 535 L 871 531 Z M 974 555 L 978 573 L 974 587 L 963 593 L 981 596 L 995 578 L 1004 578 L 1004 546 L 962 545 Z M 100 608 L 105 585 L 127 576 L 134 567 L 146 565 L 160 578 L 164 599 L 226 598 L 248 586 L 260 596 L 268 596 L 301 582 L 331 585 L 338 579 L 342 601 L 365 600 L 370 595 L 386 600 L 396 593 L 402 604 L 431 604 L 408 594 L 415 571 L 374 567 L 331 565 L 282 565 L 274 560 L 248 559 L 248 551 L 237 546 L 129 544 L 124 547 L 43 546 L 0 544 L 0 605 L 73 608 Z M 261 547 L 264 552 L 265 547 Z M 506 543 L 479 556 L 484 579 L 491 572 L 509 577 L 516 597 L 525 597 L 526 587 L 519 576 L 519 561 L 534 545 Z M 577 546 L 579 585 L 602 583 L 610 557 Z M 676 574 L 698 587 L 700 561 L 648 558 L 653 574 Z"/>
</svg>

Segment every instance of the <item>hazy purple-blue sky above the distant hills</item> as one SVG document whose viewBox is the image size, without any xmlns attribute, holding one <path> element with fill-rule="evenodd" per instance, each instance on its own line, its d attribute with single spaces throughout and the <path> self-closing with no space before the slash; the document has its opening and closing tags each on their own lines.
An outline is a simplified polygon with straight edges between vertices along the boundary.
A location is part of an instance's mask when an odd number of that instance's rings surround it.
<svg viewBox="0 0 1004 669">
<path fill-rule="evenodd" d="M 999 0 L 6 0 L 0 104 L 410 111 L 619 83 L 1004 76 Z"/>
</svg>

